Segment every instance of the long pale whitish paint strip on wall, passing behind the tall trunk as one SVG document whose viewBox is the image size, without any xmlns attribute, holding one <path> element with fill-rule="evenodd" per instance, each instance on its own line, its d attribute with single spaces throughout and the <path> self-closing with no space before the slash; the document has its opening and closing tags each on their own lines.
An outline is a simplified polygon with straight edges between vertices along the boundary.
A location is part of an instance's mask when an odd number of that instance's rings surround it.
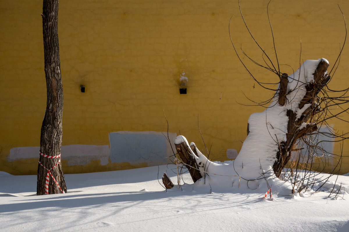
<svg viewBox="0 0 349 232">
<path fill-rule="evenodd" d="M 40 147 L 14 147 L 7 156 L 7 161 L 39 158 Z M 106 165 L 110 158 L 109 145 L 65 145 L 61 148 L 62 160 L 68 160 L 68 166 L 87 165 L 92 160 L 100 160 Z"/>
</svg>

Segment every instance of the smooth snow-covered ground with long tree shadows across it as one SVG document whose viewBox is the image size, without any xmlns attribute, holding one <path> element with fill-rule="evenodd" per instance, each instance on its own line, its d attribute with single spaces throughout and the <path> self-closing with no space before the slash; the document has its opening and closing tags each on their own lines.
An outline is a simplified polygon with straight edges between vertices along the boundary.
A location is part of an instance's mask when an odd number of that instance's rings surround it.
<svg viewBox="0 0 349 232">
<path fill-rule="evenodd" d="M 176 184 L 170 168 L 68 174 L 68 193 L 43 196 L 35 195 L 36 176 L 0 172 L 0 231 L 349 231 L 348 194 L 292 198 L 272 187 L 274 200 L 263 200 L 264 187 L 211 177 L 192 184 L 189 174 L 166 192 L 157 178 L 167 171 Z M 349 176 L 337 183 L 348 186 Z"/>
</svg>

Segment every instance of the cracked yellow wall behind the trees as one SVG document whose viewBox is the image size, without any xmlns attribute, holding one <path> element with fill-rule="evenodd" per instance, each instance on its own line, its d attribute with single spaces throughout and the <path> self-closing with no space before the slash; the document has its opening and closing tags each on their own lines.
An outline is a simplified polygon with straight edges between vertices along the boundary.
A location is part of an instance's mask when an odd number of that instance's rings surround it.
<svg viewBox="0 0 349 232">
<path fill-rule="evenodd" d="M 273 57 L 266 7 L 269 0 L 241 0 L 245 20 Z M 346 0 L 273 0 L 269 6 L 280 64 L 294 70 L 301 60 L 326 58 L 333 64 L 345 29 L 337 6 L 349 15 Z M 0 170 L 35 174 L 37 159 L 9 161 L 10 149 L 39 146 L 46 107 L 42 42 L 42 1 L 0 2 Z M 114 131 L 169 131 L 185 135 L 210 158 L 227 160 L 227 149 L 240 150 L 251 113 L 262 111 L 255 101 L 269 93 L 257 86 L 239 63 L 232 40 L 262 62 L 243 24 L 237 1 L 60 1 L 59 44 L 64 88 L 63 145 L 109 145 Z M 239 52 L 241 55 L 241 51 Z M 330 87 L 348 87 L 348 49 Z M 247 58 L 244 57 L 247 62 Z M 248 63 L 261 81 L 278 77 Z M 330 66 L 330 69 L 332 66 Z M 180 73 L 188 78 L 187 94 L 179 94 Z M 281 72 L 291 74 L 289 66 Z M 86 86 L 86 93 L 80 92 Z M 274 86 L 275 88 L 275 86 Z M 241 104 L 239 104 L 241 103 Z M 348 114 L 343 119 L 349 120 Z M 349 131 L 348 123 L 334 121 Z M 334 152 L 338 153 L 336 145 Z M 344 155 L 348 155 L 348 143 Z M 25 158 L 25 157 L 24 157 Z M 106 171 L 146 164 L 112 163 L 68 166 L 65 173 Z M 342 173 L 349 171 L 344 158 Z"/>
</svg>

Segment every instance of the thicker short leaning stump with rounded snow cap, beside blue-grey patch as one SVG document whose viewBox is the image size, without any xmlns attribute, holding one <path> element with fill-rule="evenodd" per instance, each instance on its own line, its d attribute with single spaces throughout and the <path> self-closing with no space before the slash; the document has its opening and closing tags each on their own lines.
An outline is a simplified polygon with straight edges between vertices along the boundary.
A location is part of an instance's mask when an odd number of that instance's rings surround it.
<svg viewBox="0 0 349 232">
<path fill-rule="evenodd" d="M 193 179 L 193 182 L 195 183 L 198 179 L 202 177 L 199 170 L 199 165 L 195 160 L 195 158 L 197 158 L 196 155 L 190 149 L 190 147 L 188 146 L 188 142 L 186 141 L 186 138 L 183 136 L 177 136 L 176 141 L 174 142 L 174 145 L 176 146 L 176 150 L 179 155 L 179 158 L 184 163 L 184 165 L 188 168 L 188 171 Z"/>
</svg>

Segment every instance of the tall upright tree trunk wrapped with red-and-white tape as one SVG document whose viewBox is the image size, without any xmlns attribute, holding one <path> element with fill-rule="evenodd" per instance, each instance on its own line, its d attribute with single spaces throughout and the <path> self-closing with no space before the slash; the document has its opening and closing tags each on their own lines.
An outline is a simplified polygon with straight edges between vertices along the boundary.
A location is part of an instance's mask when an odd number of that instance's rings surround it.
<svg viewBox="0 0 349 232">
<path fill-rule="evenodd" d="M 43 38 L 45 57 L 45 77 L 47 87 L 47 105 L 44 121 L 41 127 L 40 152 L 47 156 L 58 156 L 62 145 L 62 112 L 63 89 L 60 72 L 59 44 L 58 44 L 58 0 L 43 1 Z M 37 176 L 37 195 L 45 194 L 45 181 L 49 175 L 48 193 L 67 192 L 60 157 L 39 157 Z M 40 165 L 40 163 L 42 165 Z M 58 163 L 58 164 L 57 164 Z M 57 166 L 55 166 L 57 164 Z M 48 171 L 47 169 L 51 169 Z M 54 167 L 55 166 L 55 167 Z M 53 178 L 57 181 L 54 182 Z M 59 189 L 60 186 L 61 190 Z M 46 192 L 46 193 L 47 193 Z"/>
</svg>

